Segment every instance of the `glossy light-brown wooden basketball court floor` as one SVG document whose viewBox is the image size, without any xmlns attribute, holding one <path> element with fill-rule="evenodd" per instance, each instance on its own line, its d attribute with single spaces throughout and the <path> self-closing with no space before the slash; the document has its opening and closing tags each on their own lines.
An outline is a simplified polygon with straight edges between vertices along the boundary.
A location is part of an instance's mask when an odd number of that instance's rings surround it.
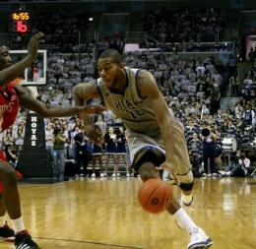
<svg viewBox="0 0 256 249">
<path fill-rule="evenodd" d="M 19 187 L 26 225 L 42 249 L 185 249 L 189 237 L 171 216 L 142 211 L 140 185 L 139 178 L 80 178 Z M 191 216 L 213 238 L 211 249 L 256 248 L 256 178 L 201 178 L 194 189 Z"/>
</svg>

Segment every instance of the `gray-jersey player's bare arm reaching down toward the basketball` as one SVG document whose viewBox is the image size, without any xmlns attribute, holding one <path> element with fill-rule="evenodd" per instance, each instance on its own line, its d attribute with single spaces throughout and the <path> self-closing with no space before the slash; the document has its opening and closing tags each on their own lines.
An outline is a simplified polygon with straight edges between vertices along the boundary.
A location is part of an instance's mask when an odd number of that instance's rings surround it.
<svg viewBox="0 0 256 249">
<path fill-rule="evenodd" d="M 169 113 L 158 84 L 150 72 L 145 71 L 141 74 L 138 81 L 138 89 L 142 96 L 148 97 L 151 100 L 156 119 L 160 126 L 160 134 L 166 154 L 165 161 L 173 164 L 173 116 Z"/>
</svg>

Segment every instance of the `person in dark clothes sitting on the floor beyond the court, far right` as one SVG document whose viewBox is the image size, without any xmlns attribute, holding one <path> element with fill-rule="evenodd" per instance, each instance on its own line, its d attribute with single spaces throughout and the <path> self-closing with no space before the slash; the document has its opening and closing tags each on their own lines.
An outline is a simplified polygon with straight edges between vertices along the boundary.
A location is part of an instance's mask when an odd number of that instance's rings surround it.
<svg viewBox="0 0 256 249">
<path fill-rule="evenodd" d="M 234 163 L 224 172 L 226 176 L 246 176 L 251 161 L 247 158 L 244 152 L 237 151 Z"/>
</svg>

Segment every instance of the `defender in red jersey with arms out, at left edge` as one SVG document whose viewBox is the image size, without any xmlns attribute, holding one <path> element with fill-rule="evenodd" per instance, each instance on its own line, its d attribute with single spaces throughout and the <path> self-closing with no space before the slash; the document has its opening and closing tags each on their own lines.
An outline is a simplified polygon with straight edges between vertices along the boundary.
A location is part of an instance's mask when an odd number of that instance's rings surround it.
<svg viewBox="0 0 256 249">
<path fill-rule="evenodd" d="M 43 33 L 34 34 L 28 45 L 27 57 L 16 64 L 12 63 L 8 48 L 0 46 L 0 132 L 15 122 L 20 105 L 43 117 L 70 116 L 79 113 L 91 114 L 105 109 L 100 106 L 68 108 L 46 106 L 17 84 L 19 82 L 17 78 L 36 59 L 38 44 L 42 38 Z M 1 219 L 3 221 L 7 211 L 14 227 L 14 230 L 7 224 L 0 227 L 0 238 L 8 240 L 10 236 L 15 236 L 16 249 L 39 249 L 36 243 L 32 241 L 32 237 L 23 222 L 15 169 L 7 162 L 4 152 L 1 150 L 0 181 L 0 221 Z M 2 224 L 0 223 L 0 225 Z"/>
</svg>

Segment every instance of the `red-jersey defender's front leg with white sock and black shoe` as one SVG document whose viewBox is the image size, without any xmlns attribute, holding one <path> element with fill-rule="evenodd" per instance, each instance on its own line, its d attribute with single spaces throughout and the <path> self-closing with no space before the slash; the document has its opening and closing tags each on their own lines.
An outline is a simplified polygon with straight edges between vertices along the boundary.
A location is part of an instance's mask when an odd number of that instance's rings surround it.
<svg viewBox="0 0 256 249">
<path fill-rule="evenodd" d="M 9 217 L 12 219 L 15 230 L 15 247 L 27 249 L 39 249 L 32 241 L 32 237 L 25 228 L 21 202 L 17 187 L 16 172 L 8 162 L 0 161 L 0 179 L 2 179 L 4 204 Z"/>
</svg>

